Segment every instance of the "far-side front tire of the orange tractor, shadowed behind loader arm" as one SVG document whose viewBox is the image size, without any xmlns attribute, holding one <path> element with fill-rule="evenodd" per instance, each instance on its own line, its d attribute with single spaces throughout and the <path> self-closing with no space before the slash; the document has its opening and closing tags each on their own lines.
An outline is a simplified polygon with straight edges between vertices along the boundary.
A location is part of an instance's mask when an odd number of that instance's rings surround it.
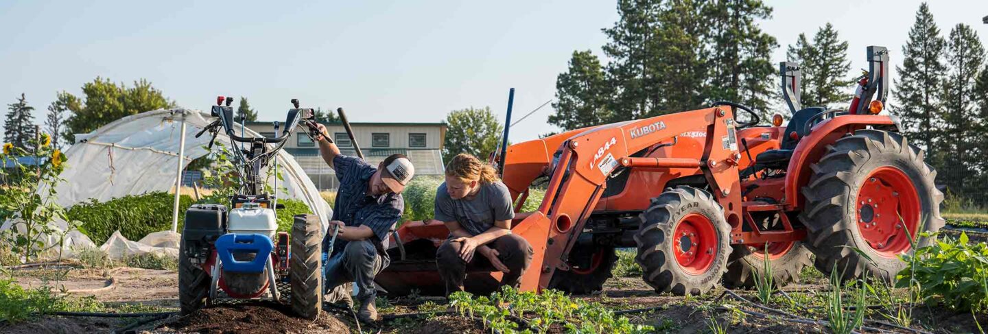
<svg viewBox="0 0 988 334">
<path fill-rule="evenodd" d="M 570 252 L 570 258 L 575 256 L 591 256 L 591 263 L 597 263 L 594 268 L 588 271 L 581 271 L 570 266 L 570 270 L 557 270 L 549 281 L 549 289 L 555 289 L 572 294 L 590 294 L 604 290 L 604 283 L 612 277 L 611 271 L 617 263 L 617 254 L 614 248 L 601 248 L 592 255 L 577 254 L 581 250 L 574 249 Z"/>
</svg>

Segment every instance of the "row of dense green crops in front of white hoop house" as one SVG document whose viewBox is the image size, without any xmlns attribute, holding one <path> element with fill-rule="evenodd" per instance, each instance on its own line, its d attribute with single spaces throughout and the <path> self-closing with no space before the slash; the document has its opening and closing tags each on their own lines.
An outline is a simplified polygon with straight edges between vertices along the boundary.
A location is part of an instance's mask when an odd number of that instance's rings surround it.
<svg viewBox="0 0 988 334">
<path fill-rule="evenodd" d="M 172 206 L 175 196 L 165 192 L 124 196 L 100 203 L 90 200 L 73 206 L 66 212 L 69 220 L 79 220 L 83 232 L 96 244 L 103 244 L 120 230 L 125 238 L 139 240 L 151 232 L 172 228 Z M 185 211 L 193 205 L 193 199 L 182 196 L 179 201 L 179 230 L 182 230 Z"/>
</svg>

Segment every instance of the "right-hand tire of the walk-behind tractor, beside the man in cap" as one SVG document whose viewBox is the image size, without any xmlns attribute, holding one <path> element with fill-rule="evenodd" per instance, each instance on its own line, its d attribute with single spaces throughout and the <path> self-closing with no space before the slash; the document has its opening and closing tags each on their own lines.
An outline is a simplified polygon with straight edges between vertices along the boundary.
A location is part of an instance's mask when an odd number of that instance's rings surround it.
<svg viewBox="0 0 988 334">
<path fill-rule="evenodd" d="M 306 319 L 322 312 L 322 224 L 314 214 L 294 216 L 288 281 L 291 310 Z"/>
</svg>

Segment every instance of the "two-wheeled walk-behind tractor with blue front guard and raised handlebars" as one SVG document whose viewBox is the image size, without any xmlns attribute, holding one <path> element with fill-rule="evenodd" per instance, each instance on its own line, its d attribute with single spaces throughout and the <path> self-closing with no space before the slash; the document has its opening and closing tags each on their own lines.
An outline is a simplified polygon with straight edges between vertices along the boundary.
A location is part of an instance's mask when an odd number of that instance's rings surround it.
<svg viewBox="0 0 988 334">
<path fill-rule="evenodd" d="M 266 193 L 262 174 L 295 126 L 311 124 L 312 110 L 299 109 L 292 100 L 294 108 L 280 135 L 245 137 L 234 130 L 232 100 L 218 97 L 212 106 L 218 120 L 196 136 L 209 131 L 210 148 L 219 131 L 230 138 L 242 187 L 229 199 L 229 207 L 196 205 L 186 211 L 179 247 L 182 313 L 221 299 L 270 298 L 290 303 L 298 316 L 315 318 L 322 310 L 322 225 L 316 215 L 301 214 L 293 217 L 290 235 L 277 232 L 275 210 L 280 206 Z M 279 124 L 274 126 L 279 133 Z M 271 167 L 277 173 L 277 163 Z"/>
</svg>

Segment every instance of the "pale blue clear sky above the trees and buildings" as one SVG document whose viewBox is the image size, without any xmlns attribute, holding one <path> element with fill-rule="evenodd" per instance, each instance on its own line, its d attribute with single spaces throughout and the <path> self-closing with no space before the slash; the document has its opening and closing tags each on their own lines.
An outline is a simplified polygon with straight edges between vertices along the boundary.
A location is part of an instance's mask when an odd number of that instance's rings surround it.
<svg viewBox="0 0 988 334">
<path fill-rule="evenodd" d="M 760 25 L 780 44 L 774 62 L 799 33 L 830 22 L 857 71 L 867 45 L 887 46 L 901 63 L 921 2 L 766 3 L 773 18 Z M 965 23 L 988 44 L 988 1 L 930 7 L 945 36 Z M 434 123 L 467 107 L 490 107 L 503 120 L 515 88 L 518 120 L 554 98 L 574 50 L 603 56 L 601 29 L 616 21 L 614 1 L 0 0 L 0 103 L 27 94 L 41 124 L 56 92 L 81 95 L 102 76 L 128 86 L 147 79 L 192 109 L 244 96 L 260 121 L 284 121 L 297 98 L 343 107 L 351 122 Z M 554 130 L 551 113 L 546 106 L 513 126 L 511 140 Z"/>
</svg>

